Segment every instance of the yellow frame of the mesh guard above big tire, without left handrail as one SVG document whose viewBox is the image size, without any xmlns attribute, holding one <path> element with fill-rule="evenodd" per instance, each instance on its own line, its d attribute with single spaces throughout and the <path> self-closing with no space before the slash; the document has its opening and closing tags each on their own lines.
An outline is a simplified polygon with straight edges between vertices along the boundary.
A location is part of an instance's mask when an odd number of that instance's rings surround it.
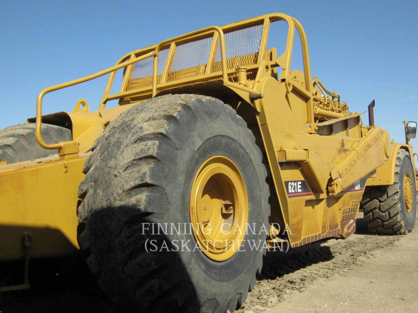
<svg viewBox="0 0 418 313">
<path fill-rule="evenodd" d="M 298 30 L 298 33 L 300 35 L 301 38 L 301 43 L 302 43 L 302 54 L 303 54 L 303 63 L 304 63 L 304 71 L 305 71 L 305 80 L 306 82 L 310 82 L 311 81 L 311 77 L 310 77 L 310 70 L 309 70 L 309 58 L 308 58 L 308 49 L 307 49 L 307 42 L 306 42 L 306 35 L 305 32 L 302 28 L 302 26 L 300 25 L 300 23 L 291 18 L 288 15 L 282 14 L 282 13 L 273 13 L 273 14 L 268 14 L 268 15 L 262 15 L 262 16 L 258 16 L 256 18 L 250 18 L 247 20 L 242 20 L 240 22 L 236 22 L 236 23 L 231 23 L 228 25 L 224 25 L 221 27 L 216 27 L 216 26 L 211 26 L 208 28 L 203 28 L 201 30 L 196 30 L 194 32 L 191 33 L 187 33 L 185 35 L 181 35 L 175 38 L 171 38 L 168 40 L 165 40 L 163 42 L 161 42 L 158 45 L 153 45 L 147 48 L 143 48 L 143 49 L 139 49 L 139 50 L 135 50 L 131 53 L 127 53 L 125 56 L 123 56 L 120 61 L 118 62 L 123 62 L 125 60 L 129 60 L 130 58 L 132 58 L 133 56 L 137 56 L 140 53 L 146 53 L 152 49 L 156 49 L 157 46 L 159 46 L 159 48 L 167 48 L 167 50 L 169 51 L 168 53 L 171 52 L 171 46 L 169 46 L 169 43 L 173 44 L 177 44 L 177 43 L 185 43 L 185 42 L 191 42 L 194 40 L 199 40 L 202 38 L 207 37 L 210 33 L 217 33 L 219 34 L 219 43 L 221 46 L 221 61 L 222 61 L 222 75 L 221 75 L 221 71 L 214 71 L 212 72 L 212 65 L 211 63 L 208 62 L 206 63 L 206 71 L 204 74 L 202 75 L 196 75 L 193 77 L 187 77 L 187 78 L 181 78 L 175 81 L 167 81 L 167 80 L 162 80 L 162 82 L 158 82 L 158 75 L 157 75 L 157 71 L 156 69 L 158 68 L 158 56 L 154 57 L 153 60 L 153 71 L 152 71 L 152 83 L 149 86 L 143 86 L 141 88 L 130 88 L 129 90 L 126 88 L 126 86 L 128 85 L 128 82 L 122 83 L 122 87 L 125 86 L 125 88 L 121 88 L 119 93 L 114 93 L 110 95 L 110 88 L 112 86 L 114 77 L 115 77 L 115 73 L 112 73 L 109 76 L 109 80 L 107 82 L 107 86 L 104 90 L 103 96 L 102 96 L 102 100 L 101 100 L 101 104 L 100 104 L 100 109 L 103 109 L 105 107 L 105 103 L 106 101 L 110 101 L 110 100 L 115 100 L 115 99 L 121 99 L 121 98 L 129 98 L 129 97 L 135 97 L 136 95 L 141 95 L 141 99 L 144 98 L 144 96 L 155 96 L 155 94 L 161 90 L 164 89 L 170 89 L 170 88 L 175 88 L 177 86 L 182 86 L 182 85 L 188 85 L 190 83 L 199 83 L 201 81 L 209 81 L 209 80 L 214 80 L 214 79 L 219 79 L 222 78 L 224 81 L 228 80 L 229 75 L 233 75 L 234 72 L 236 71 L 235 68 L 228 68 L 228 61 L 230 61 L 230 59 L 226 59 L 226 49 L 231 48 L 229 46 L 229 44 L 227 43 L 227 47 L 225 47 L 225 36 L 224 34 L 228 34 L 230 32 L 233 32 L 234 30 L 240 30 L 240 29 L 244 29 L 244 28 L 249 28 L 251 26 L 254 25 L 263 25 L 263 33 L 261 35 L 260 38 L 260 43 L 259 43 L 259 51 L 258 51 L 258 56 L 257 56 L 257 61 L 256 63 L 250 65 L 250 66 L 246 66 L 248 71 L 257 69 L 260 66 L 261 61 L 265 58 L 265 52 L 266 52 L 266 47 L 267 47 L 267 38 L 268 38 L 268 30 L 270 28 L 270 23 L 271 22 L 276 22 L 276 21 L 280 21 L 283 20 L 288 24 L 288 36 L 287 36 L 287 40 L 286 40 L 286 48 L 285 48 L 285 52 L 280 56 L 280 58 L 278 58 L 277 61 L 280 61 L 280 65 L 279 63 L 275 63 L 270 62 L 270 66 L 281 66 L 283 68 L 282 73 L 280 74 L 280 80 L 285 79 L 288 75 L 289 69 L 290 69 L 290 60 L 291 60 L 291 54 L 292 54 L 292 47 L 293 47 L 293 39 L 294 39 L 294 34 L 295 34 L 295 29 Z M 214 40 L 215 41 L 215 40 Z M 213 45 L 213 43 L 212 43 Z M 159 51 L 158 48 L 158 51 Z M 212 49 L 212 47 L 211 47 Z M 210 53 L 213 53 L 213 50 L 211 50 Z M 213 57 L 212 56 L 212 61 L 213 61 Z M 209 56 L 209 58 L 211 58 L 211 56 Z M 168 57 L 166 59 L 166 62 L 168 62 Z M 170 71 L 171 72 L 171 71 Z M 128 72 L 127 72 L 128 73 Z M 162 77 L 167 77 L 168 73 L 166 73 L 166 71 L 164 70 Z M 127 81 L 130 81 L 129 79 L 129 75 L 126 75 L 125 77 L 127 79 Z M 144 77 L 145 78 L 145 77 Z M 151 86 L 152 85 L 152 86 Z M 311 91 L 311 84 L 310 83 L 306 83 L 306 91 L 308 91 L 308 93 Z"/>
</svg>

